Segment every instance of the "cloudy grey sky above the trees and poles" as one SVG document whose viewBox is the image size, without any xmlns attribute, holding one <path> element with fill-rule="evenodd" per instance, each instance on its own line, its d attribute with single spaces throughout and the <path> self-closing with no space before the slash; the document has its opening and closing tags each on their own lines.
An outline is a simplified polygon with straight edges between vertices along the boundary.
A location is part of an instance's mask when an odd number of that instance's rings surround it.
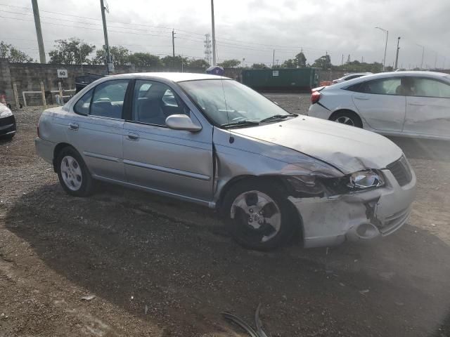
<svg viewBox="0 0 450 337">
<path fill-rule="evenodd" d="M 130 51 L 205 58 L 210 0 L 107 0 L 109 43 Z M 44 46 L 77 37 L 102 48 L 100 0 L 38 0 Z M 214 0 L 217 60 L 282 63 L 303 51 L 307 62 L 330 54 L 399 67 L 450 68 L 449 0 Z M 0 40 L 39 59 L 31 0 L 0 0 Z M 48 58 L 48 55 L 47 55 Z"/>
</svg>

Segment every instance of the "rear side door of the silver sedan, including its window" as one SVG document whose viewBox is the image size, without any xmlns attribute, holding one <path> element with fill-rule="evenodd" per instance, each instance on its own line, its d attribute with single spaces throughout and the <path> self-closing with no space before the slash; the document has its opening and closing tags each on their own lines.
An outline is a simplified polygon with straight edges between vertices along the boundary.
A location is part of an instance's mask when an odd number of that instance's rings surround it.
<svg viewBox="0 0 450 337">
<path fill-rule="evenodd" d="M 74 105 L 68 139 L 96 178 L 124 180 L 122 112 L 128 84 L 128 79 L 102 82 Z"/>
</svg>

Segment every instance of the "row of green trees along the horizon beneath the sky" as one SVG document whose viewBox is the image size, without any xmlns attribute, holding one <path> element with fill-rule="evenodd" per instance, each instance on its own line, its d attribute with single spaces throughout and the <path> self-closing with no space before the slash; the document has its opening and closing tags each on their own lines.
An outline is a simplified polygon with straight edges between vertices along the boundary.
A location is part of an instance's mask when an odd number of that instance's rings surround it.
<svg viewBox="0 0 450 337">
<path fill-rule="evenodd" d="M 91 56 L 92 53 L 95 55 Z M 105 51 L 97 49 L 93 44 L 87 44 L 81 39 L 72 37 L 70 39 L 59 39 L 55 41 L 54 48 L 49 51 L 49 63 L 58 65 L 104 65 L 106 60 Z M 135 65 L 145 67 L 209 67 L 210 64 L 200 58 L 188 58 L 182 55 L 175 57 L 167 55 L 160 57 L 145 52 L 131 52 L 124 46 L 110 46 L 110 56 L 115 67 L 123 65 Z M 19 51 L 11 44 L 0 42 L 0 58 L 8 58 L 10 62 L 34 62 L 33 58 Z M 218 65 L 224 68 L 243 67 L 240 60 L 231 59 L 224 60 Z M 381 72 L 383 65 L 379 62 L 367 63 L 357 60 L 347 61 L 343 65 L 331 64 L 330 55 L 322 55 L 311 64 L 307 62 L 307 58 L 301 51 L 294 58 L 285 60 L 281 65 L 266 65 L 264 63 L 253 63 L 248 69 L 269 69 L 269 68 L 302 68 L 316 67 L 324 71 L 341 70 L 346 72 Z M 392 67 L 387 67 L 387 71 L 392 71 Z"/>
</svg>

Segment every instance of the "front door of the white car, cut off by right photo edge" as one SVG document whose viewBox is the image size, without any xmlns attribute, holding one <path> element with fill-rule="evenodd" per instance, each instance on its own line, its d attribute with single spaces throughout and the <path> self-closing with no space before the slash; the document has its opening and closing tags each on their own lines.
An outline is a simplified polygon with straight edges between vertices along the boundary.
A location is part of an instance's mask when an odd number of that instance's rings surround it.
<svg viewBox="0 0 450 337">
<path fill-rule="evenodd" d="M 415 77 L 413 94 L 406 98 L 404 132 L 450 137 L 450 84 L 429 77 Z"/>
</svg>

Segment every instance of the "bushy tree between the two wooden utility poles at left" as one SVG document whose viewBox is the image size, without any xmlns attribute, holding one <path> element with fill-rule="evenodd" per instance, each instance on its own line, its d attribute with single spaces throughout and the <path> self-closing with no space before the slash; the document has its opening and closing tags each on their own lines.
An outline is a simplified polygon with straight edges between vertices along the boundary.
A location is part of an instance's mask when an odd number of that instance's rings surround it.
<svg viewBox="0 0 450 337">
<path fill-rule="evenodd" d="M 88 56 L 96 46 L 85 44 L 84 41 L 71 37 L 66 40 L 55 40 L 55 49 L 49 52 L 49 63 L 59 65 L 77 65 L 89 63 Z"/>
</svg>

